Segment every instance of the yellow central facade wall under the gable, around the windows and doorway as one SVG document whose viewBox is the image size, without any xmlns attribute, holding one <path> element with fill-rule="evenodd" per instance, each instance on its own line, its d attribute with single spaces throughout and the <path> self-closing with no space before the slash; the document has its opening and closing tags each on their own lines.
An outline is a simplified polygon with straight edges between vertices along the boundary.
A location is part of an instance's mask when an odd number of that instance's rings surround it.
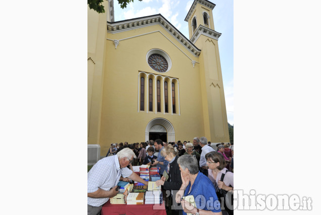
<svg viewBox="0 0 321 215">
<path fill-rule="evenodd" d="M 176 141 L 192 141 L 194 137 L 205 135 L 202 98 L 200 97 L 199 64 L 196 63 L 193 68 L 191 60 L 185 54 L 195 61 L 198 61 L 198 57 L 192 55 L 160 25 L 116 34 L 108 33 L 107 38 L 119 40 L 158 30 L 164 35 L 155 32 L 122 40 L 117 49 L 115 49 L 113 41 L 107 41 L 108 51 L 105 60 L 109 66 L 105 69 L 104 76 L 100 136 L 102 154 L 105 154 L 104 150 L 107 150 L 110 143 L 145 141 L 146 126 L 149 121 L 157 117 L 165 118 L 172 123 Z M 158 73 L 148 65 L 146 54 L 151 49 L 161 49 L 169 55 L 172 67 L 168 72 Z M 178 111 L 176 114 L 147 113 L 146 109 L 137 112 L 139 71 L 175 77 L 179 80 L 180 115 Z M 177 87 L 176 85 L 176 89 Z M 175 93 L 178 96 L 177 90 Z"/>
</svg>

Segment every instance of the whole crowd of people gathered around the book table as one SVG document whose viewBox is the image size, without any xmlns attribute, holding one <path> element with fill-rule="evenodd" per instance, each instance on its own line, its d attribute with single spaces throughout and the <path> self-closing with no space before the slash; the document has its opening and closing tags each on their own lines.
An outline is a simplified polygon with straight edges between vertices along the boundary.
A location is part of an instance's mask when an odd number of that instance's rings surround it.
<svg viewBox="0 0 321 215">
<path fill-rule="evenodd" d="M 142 164 L 160 168 L 161 179 L 156 185 L 162 186 L 166 210 L 171 214 L 222 214 L 221 209 L 225 214 L 233 214 L 230 203 L 233 201 L 226 199 L 234 191 L 233 157 L 233 143 L 212 144 L 206 137 L 195 137 L 193 143 L 167 143 L 160 139 L 112 143 L 106 158 L 88 172 L 88 215 L 100 214 L 102 205 L 119 192 L 115 190 L 119 181 L 133 180 L 147 185 L 132 167 Z M 167 180 L 163 176 L 165 171 Z M 189 195 L 194 196 L 196 207 L 184 200 Z"/>
</svg>

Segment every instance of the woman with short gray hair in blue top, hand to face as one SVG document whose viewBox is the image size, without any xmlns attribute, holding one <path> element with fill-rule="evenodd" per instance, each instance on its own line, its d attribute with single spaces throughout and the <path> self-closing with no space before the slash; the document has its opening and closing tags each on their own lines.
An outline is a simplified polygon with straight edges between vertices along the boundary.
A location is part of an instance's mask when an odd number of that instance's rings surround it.
<svg viewBox="0 0 321 215">
<path fill-rule="evenodd" d="M 215 214 L 221 215 L 215 187 L 211 180 L 199 171 L 197 159 L 191 155 L 182 155 L 177 159 L 181 175 L 181 187 L 176 193 L 175 200 L 181 203 L 183 214 L 196 215 Z M 194 196 L 196 207 L 188 201 L 181 199 L 183 196 Z"/>
</svg>

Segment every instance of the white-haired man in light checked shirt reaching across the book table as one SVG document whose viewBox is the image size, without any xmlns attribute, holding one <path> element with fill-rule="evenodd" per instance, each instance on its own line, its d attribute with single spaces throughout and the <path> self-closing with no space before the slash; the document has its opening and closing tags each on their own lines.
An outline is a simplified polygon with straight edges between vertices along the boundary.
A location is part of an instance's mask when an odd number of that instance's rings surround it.
<svg viewBox="0 0 321 215">
<path fill-rule="evenodd" d="M 87 174 L 87 214 L 100 214 L 103 204 L 117 195 L 117 184 L 120 176 L 148 185 L 148 182 L 137 176 L 128 166 L 135 153 L 124 148 L 114 156 L 99 160 Z"/>
</svg>

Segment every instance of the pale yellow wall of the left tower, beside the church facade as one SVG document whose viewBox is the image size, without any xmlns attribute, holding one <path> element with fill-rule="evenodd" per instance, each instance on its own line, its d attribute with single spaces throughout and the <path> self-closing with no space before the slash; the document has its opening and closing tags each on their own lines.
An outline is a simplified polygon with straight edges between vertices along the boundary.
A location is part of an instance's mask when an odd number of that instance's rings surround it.
<svg viewBox="0 0 321 215">
<path fill-rule="evenodd" d="M 108 2 L 102 4 L 108 12 Z M 87 142 L 99 144 L 107 13 L 98 14 L 87 7 L 87 16 Z"/>
</svg>

